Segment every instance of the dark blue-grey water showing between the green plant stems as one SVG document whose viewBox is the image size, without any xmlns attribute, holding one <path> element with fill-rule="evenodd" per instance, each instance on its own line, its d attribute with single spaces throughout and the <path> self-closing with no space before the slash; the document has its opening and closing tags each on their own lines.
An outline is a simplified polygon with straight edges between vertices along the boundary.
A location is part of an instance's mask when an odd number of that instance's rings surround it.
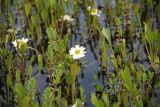
<svg viewBox="0 0 160 107">
<path fill-rule="evenodd" d="M 139 2 L 139 0 L 134 0 L 133 2 Z M 101 24 L 102 27 L 108 27 L 108 23 L 105 21 L 105 16 L 104 16 L 104 10 L 103 10 L 103 0 L 97 0 L 97 5 L 98 7 L 102 7 L 101 8 L 101 16 L 99 17 L 99 22 Z M 114 0 L 110 0 L 110 5 L 115 8 L 115 2 Z M 13 8 L 13 13 L 15 15 L 15 19 L 16 19 L 16 15 L 17 13 L 14 11 L 14 7 L 11 7 Z M 23 16 L 23 15 L 22 15 Z M 21 29 L 20 28 L 20 20 L 19 19 L 16 19 L 17 20 L 17 23 L 16 23 L 16 28 L 17 29 Z M 96 46 L 99 46 L 99 41 L 98 40 L 95 40 L 94 38 L 86 38 L 86 40 L 84 41 L 83 38 L 82 38 L 82 35 L 81 33 L 84 31 L 84 24 L 86 23 L 86 15 L 85 15 L 85 12 L 83 10 L 83 8 L 80 8 L 80 16 L 79 16 L 79 23 L 80 23 L 80 26 L 79 28 L 77 29 L 77 34 L 76 35 L 73 35 L 71 37 L 71 40 L 69 42 L 69 47 L 72 47 L 74 46 L 75 43 L 77 44 L 81 44 L 83 46 L 86 47 L 86 56 L 84 58 L 84 61 L 85 61 L 85 67 L 81 68 L 81 72 L 80 74 L 78 75 L 78 79 L 77 79 L 77 82 L 80 84 L 80 86 L 82 86 L 84 88 L 84 91 L 85 91 L 85 96 L 86 96 L 86 105 L 87 107 L 93 107 L 93 105 L 91 104 L 91 101 L 90 101 L 90 95 L 91 95 L 91 92 L 94 92 L 96 91 L 96 88 L 95 88 L 95 85 L 97 83 L 99 84 L 102 84 L 103 86 L 106 86 L 106 84 L 103 82 L 104 81 L 104 78 L 105 76 L 103 76 L 103 74 L 100 74 L 100 72 L 103 70 L 103 68 L 100 67 L 100 63 L 98 61 L 97 58 L 100 57 L 100 53 L 98 52 L 98 50 L 96 49 Z M 154 21 L 154 27 L 157 28 L 157 23 L 156 23 L 156 18 L 153 18 L 153 21 Z M 24 26 L 24 22 L 22 22 L 22 25 Z M 138 29 L 138 28 L 137 28 Z M 113 34 L 115 33 L 115 29 L 113 27 Z M 137 38 L 138 38 L 138 33 L 137 33 Z M 17 35 L 17 38 L 19 38 L 20 35 Z M 86 34 L 86 37 L 88 37 L 88 35 Z M 139 61 L 137 62 L 137 68 L 141 69 L 140 67 L 140 64 L 143 62 L 144 66 L 148 68 L 149 64 L 146 60 L 146 53 L 144 52 L 144 49 L 143 47 L 141 46 L 141 44 L 139 43 L 138 39 L 135 41 L 135 43 L 138 47 L 137 47 L 137 50 L 138 50 L 138 55 L 139 55 Z M 129 50 L 130 50 L 130 46 L 128 46 L 128 55 L 131 54 L 129 53 Z M 108 52 L 106 53 L 106 55 L 110 58 L 110 49 L 108 49 Z M 142 61 L 142 62 L 141 62 Z M 29 64 L 29 61 L 26 61 L 26 68 L 28 68 L 28 64 Z M 113 71 L 114 68 L 113 68 L 113 65 L 112 63 L 110 64 L 109 66 L 109 69 L 110 71 Z M 45 68 L 42 69 L 44 73 L 41 73 L 40 74 L 40 79 L 38 81 L 38 84 L 39 84 L 39 99 L 42 98 L 42 93 L 44 92 L 44 89 L 46 88 L 46 85 L 47 85 L 47 73 L 48 72 Z M 99 75 L 100 74 L 100 75 Z M 97 75 L 99 78 L 98 78 L 98 81 L 95 81 L 94 80 L 94 75 Z M 38 67 L 37 67 L 37 64 L 35 63 L 35 65 L 33 66 L 33 76 L 35 78 L 38 79 Z M 4 93 L 2 96 L 4 96 L 4 98 L 1 98 L 1 99 L 5 99 L 5 84 L 3 83 L 4 81 L 2 81 L 1 83 L 1 86 L 4 86 L 1 88 L 1 93 Z M 158 100 L 160 100 L 160 92 L 157 92 L 157 96 L 158 98 L 156 99 L 153 99 L 153 102 L 157 102 Z M 0 99 L 0 100 L 1 100 Z M 3 101 L 3 100 L 2 100 Z M 5 100 L 3 101 L 3 106 L 5 106 Z M 154 105 L 154 104 L 153 104 Z"/>
</svg>

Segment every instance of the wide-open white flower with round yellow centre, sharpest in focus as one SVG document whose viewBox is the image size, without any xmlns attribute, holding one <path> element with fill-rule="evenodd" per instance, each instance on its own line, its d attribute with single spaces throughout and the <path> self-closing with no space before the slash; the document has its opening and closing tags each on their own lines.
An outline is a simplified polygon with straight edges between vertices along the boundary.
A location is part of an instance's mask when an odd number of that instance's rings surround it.
<svg viewBox="0 0 160 107">
<path fill-rule="evenodd" d="M 73 59 L 80 59 L 85 56 L 86 51 L 85 47 L 76 45 L 70 49 L 69 53 L 73 56 Z"/>
</svg>

